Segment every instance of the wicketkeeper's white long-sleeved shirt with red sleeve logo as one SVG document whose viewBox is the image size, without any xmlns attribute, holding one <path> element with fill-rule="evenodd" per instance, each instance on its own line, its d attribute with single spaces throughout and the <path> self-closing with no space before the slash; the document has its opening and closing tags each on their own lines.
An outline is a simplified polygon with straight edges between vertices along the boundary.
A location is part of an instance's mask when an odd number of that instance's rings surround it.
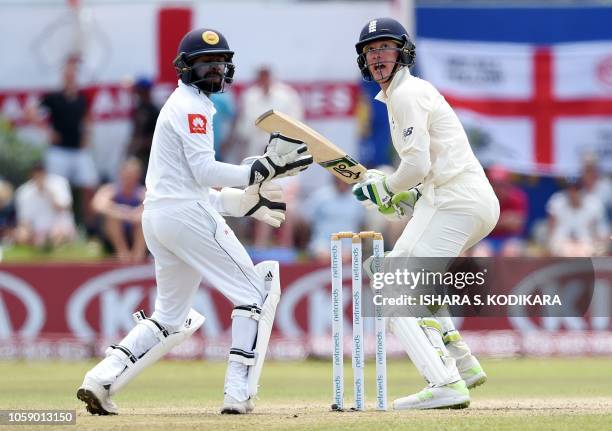
<svg viewBox="0 0 612 431">
<path fill-rule="evenodd" d="M 208 96 L 179 81 L 155 125 L 145 180 L 145 208 L 198 200 L 210 202 L 221 211 L 217 192 L 210 187 L 248 185 L 249 166 L 215 160 L 215 112 Z"/>
</svg>

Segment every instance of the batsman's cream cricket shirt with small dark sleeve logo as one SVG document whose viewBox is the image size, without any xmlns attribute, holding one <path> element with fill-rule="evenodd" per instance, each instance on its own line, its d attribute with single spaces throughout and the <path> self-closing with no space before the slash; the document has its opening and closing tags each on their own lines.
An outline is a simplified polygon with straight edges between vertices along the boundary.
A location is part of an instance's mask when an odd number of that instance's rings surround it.
<svg viewBox="0 0 612 431">
<path fill-rule="evenodd" d="M 404 67 L 376 99 L 387 105 L 391 139 L 400 156 L 399 167 L 387 179 L 392 192 L 419 183 L 432 190 L 462 174 L 467 174 L 462 181 L 488 181 L 457 115 L 429 82 Z"/>
</svg>

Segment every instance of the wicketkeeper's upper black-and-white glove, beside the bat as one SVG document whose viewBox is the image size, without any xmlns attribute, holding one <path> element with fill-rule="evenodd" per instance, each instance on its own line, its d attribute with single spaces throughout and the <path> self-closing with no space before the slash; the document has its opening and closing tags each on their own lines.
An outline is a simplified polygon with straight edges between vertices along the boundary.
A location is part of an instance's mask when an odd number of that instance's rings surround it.
<svg viewBox="0 0 612 431">
<path fill-rule="evenodd" d="M 261 184 L 272 178 L 296 175 L 313 162 L 308 147 L 302 141 L 272 133 L 263 156 L 249 157 L 243 163 L 251 163 L 249 185 Z"/>
</svg>

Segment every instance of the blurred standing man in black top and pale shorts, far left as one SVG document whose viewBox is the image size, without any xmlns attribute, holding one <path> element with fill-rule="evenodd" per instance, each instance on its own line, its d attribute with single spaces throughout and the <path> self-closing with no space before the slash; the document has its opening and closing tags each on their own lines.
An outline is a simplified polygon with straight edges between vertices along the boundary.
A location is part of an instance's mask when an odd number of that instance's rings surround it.
<svg viewBox="0 0 612 431">
<path fill-rule="evenodd" d="M 30 107 L 27 115 L 35 124 L 48 129 L 51 145 L 46 153 L 46 168 L 50 174 L 68 179 L 78 189 L 75 197 L 79 204 L 75 213 L 79 221 L 90 227 L 93 214 L 89 211 L 89 202 L 99 179 L 87 149 L 90 119 L 87 100 L 77 83 L 78 63 L 78 57 L 68 58 L 62 88 L 45 95 L 40 106 Z"/>
</svg>

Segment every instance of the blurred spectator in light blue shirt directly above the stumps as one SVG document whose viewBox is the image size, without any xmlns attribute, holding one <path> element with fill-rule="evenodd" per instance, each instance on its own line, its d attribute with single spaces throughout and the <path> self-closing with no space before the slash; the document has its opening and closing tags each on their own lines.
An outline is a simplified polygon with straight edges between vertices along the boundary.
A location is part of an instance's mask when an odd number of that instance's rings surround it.
<svg viewBox="0 0 612 431">
<path fill-rule="evenodd" d="M 353 197 L 351 186 L 334 177 L 333 184 L 320 189 L 302 206 L 302 215 L 310 223 L 308 251 L 318 260 L 329 259 L 329 239 L 334 232 L 359 232 L 364 208 Z"/>
</svg>

